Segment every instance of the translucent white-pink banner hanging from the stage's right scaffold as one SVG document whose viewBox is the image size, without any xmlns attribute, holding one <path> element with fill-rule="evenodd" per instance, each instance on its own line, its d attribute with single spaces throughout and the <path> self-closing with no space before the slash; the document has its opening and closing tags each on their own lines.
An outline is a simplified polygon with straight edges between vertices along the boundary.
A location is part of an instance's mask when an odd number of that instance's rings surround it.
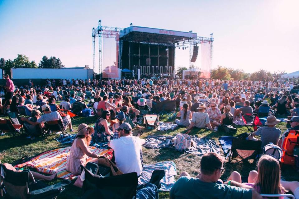
<svg viewBox="0 0 299 199">
<path fill-rule="evenodd" d="M 211 78 L 211 43 L 204 42 L 201 44 L 202 64 L 201 78 Z"/>
</svg>

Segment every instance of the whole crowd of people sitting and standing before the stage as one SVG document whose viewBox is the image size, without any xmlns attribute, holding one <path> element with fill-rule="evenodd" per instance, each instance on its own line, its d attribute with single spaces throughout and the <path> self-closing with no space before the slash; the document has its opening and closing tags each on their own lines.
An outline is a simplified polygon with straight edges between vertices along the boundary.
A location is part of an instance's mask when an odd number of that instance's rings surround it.
<svg viewBox="0 0 299 199">
<path fill-rule="evenodd" d="M 269 107 L 267 127 L 258 128 L 248 139 L 258 140 L 256 136 L 260 136 L 262 146 L 270 142 L 278 145 L 282 132 L 275 127 L 279 122 L 275 115 L 292 116 L 289 120 L 291 129 L 299 130 L 299 95 L 269 90 L 273 86 L 282 86 L 273 81 L 72 79 L 58 83 L 47 80 L 45 86 L 34 86 L 30 81 L 30 85 L 15 88 L 9 76 L 5 75 L 5 78 L 6 94 L 1 113 L 17 112 L 18 107 L 25 106 L 31 111 L 31 118 L 21 120 L 38 126 L 40 131 L 43 123 L 54 120 L 61 120 L 64 128 L 74 131 L 70 116 L 62 117 L 60 109 L 76 115 L 82 115 L 84 109 L 93 109 L 98 115 L 94 128 L 84 123 L 78 126 L 67 160 L 67 170 L 76 175 L 81 173 L 80 165 L 86 164 L 87 156 L 99 158 L 88 149 L 90 142 L 108 142 L 114 151 L 112 161 L 116 166 L 123 173 L 136 172 L 140 176 L 143 168 L 141 146 L 145 140 L 139 138 L 142 132 L 133 136 L 132 129 L 138 127 L 140 109 L 151 109 L 164 100 L 175 100 L 178 112 L 175 123 L 187 130 L 207 128 L 217 131 L 221 125 L 241 120 L 241 113 L 259 113 L 263 106 Z M 286 82 L 283 86 L 297 84 Z M 138 98 L 137 102 L 133 98 Z M 56 104 L 58 100 L 59 106 Z M 131 124 L 125 121 L 128 117 Z M 202 156 L 201 173 L 192 178 L 183 172 L 171 189 L 170 197 L 261 198 L 259 193 L 277 194 L 290 190 L 299 198 L 299 183 L 281 180 L 278 161 L 270 156 L 260 158 L 258 171 L 250 172 L 248 183 L 242 183 L 237 172 L 233 172 L 226 182 L 220 181 L 223 163 L 223 157 L 218 154 Z"/>
</svg>

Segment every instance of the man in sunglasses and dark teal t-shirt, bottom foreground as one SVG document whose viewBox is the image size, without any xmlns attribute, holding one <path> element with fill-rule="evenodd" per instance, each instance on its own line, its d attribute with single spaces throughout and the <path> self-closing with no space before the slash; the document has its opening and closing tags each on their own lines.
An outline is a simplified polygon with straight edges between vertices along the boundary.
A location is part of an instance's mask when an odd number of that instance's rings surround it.
<svg viewBox="0 0 299 199">
<path fill-rule="evenodd" d="M 170 190 L 170 198 L 234 198 L 262 199 L 252 187 L 239 183 L 239 173 L 233 172 L 228 181 L 220 179 L 224 172 L 225 158 L 217 153 L 207 153 L 200 161 L 200 174 L 192 178 L 187 172 L 182 172 L 179 179 Z"/>
</svg>

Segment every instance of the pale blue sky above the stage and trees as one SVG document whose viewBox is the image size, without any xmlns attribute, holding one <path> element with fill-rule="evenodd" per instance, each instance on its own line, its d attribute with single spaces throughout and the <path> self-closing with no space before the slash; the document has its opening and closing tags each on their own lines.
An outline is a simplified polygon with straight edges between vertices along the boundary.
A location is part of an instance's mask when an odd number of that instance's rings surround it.
<svg viewBox="0 0 299 199">
<path fill-rule="evenodd" d="M 56 56 L 66 67 L 92 67 L 91 32 L 101 19 L 104 26 L 214 33 L 212 67 L 293 72 L 299 68 L 298 7 L 297 0 L 0 0 L 0 57 L 21 53 L 38 64 L 44 55 Z"/>
</svg>

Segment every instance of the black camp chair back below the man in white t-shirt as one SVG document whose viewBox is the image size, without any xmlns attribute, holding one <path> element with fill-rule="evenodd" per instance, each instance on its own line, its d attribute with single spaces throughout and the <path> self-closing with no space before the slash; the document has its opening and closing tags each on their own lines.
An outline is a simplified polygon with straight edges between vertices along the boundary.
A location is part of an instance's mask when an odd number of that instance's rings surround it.
<svg viewBox="0 0 299 199">
<path fill-rule="evenodd" d="M 85 180 L 83 181 L 82 199 L 101 196 L 101 199 L 135 198 L 138 186 L 137 173 L 122 174 L 103 178 L 93 174 L 84 167 Z M 117 183 L 116 183 L 117 182 Z"/>
</svg>

